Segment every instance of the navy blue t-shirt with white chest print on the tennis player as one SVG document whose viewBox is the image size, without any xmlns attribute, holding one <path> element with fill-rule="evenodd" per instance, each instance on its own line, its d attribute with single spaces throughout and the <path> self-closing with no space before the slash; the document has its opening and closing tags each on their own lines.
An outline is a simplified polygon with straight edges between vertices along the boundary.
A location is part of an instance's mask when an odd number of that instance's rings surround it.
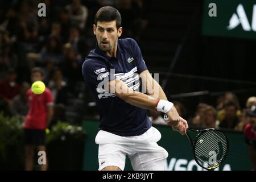
<svg viewBox="0 0 256 182">
<path fill-rule="evenodd" d="M 82 64 L 82 75 L 100 110 L 100 130 L 123 137 L 143 134 L 151 127 L 147 110 L 126 103 L 109 90 L 116 78 L 139 91 L 139 73 L 147 70 L 141 49 L 133 39 L 118 39 L 117 57 L 109 57 L 98 46 Z"/>
</svg>

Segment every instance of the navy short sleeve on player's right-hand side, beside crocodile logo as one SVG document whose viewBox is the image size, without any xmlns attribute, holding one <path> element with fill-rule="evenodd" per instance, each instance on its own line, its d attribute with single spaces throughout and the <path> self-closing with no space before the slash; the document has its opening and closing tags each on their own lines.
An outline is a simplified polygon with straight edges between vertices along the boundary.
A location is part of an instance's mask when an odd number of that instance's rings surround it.
<svg viewBox="0 0 256 182">
<path fill-rule="evenodd" d="M 147 66 L 146 63 L 142 57 L 142 53 L 141 53 L 141 49 L 139 48 L 137 42 L 134 39 L 130 39 L 131 40 L 131 48 L 133 49 L 133 54 L 135 57 L 135 60 L 137 61 L 137 69 L 138 69 L 138 73 L 141 73 L 145 70 L 147 70 Z"/>
</svg>

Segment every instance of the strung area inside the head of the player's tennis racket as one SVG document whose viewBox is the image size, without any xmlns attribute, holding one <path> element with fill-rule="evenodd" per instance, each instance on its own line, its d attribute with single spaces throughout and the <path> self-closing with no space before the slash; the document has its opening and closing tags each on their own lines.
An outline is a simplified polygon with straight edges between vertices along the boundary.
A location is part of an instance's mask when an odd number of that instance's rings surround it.
<svg viewBox="0 0 256 182">
<path fill-rule="evenodd" d="M 220 164 L 227 152 L 226 137 L 217 130 L 201 133 L 195 142 L 195 157 L 205 168 L 212 168 Z"/>
</svg>

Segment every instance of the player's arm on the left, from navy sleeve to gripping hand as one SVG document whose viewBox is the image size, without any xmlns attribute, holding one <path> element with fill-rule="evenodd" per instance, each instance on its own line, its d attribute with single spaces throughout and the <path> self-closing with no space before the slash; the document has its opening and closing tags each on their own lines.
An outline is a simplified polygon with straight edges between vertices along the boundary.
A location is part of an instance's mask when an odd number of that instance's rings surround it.
<svg viewBox="0 0 256 182">
<path fill-rule="evenodd" d="M 82 75 L 86 82 L 90 82 L 90 84 L 97 86 L 97 88 L 102 88 L 102 86 L 106 84 L 109 88 L 104 89 L 109 89 L 109 93 L 114 93 L 115 96 L 121 98 L 123 101 L 137 107 L 142 107 L 144 109 L 156 109 L 156 106 L 159 106 L 159 109 L 162 108 L 160 107 L 160 103 L 168 102 L 164 100 L 159 101 L 159 99 L 129 89 L 122 80 L 115 79 L 115 76 L 111 72 L 108 72 L 108 68 L 106 65 L 102 65 L 101 61 L 86 60 L 82 65 Z M 167 109 L 168 107 L 171 109 Z M 185 134 L 187 130 L 187 122 L 184 119 L 180 119 L 175 107 L 170 107 L 170 104 L 168 105 L 167 103 L 163 112 L 170 118 L 170 123 L 168 122 L 168 124 L 175 127 L 175 129 L 181 134 Z M 182 122 L 179 122 L 180 120 Z"/>
</svg>

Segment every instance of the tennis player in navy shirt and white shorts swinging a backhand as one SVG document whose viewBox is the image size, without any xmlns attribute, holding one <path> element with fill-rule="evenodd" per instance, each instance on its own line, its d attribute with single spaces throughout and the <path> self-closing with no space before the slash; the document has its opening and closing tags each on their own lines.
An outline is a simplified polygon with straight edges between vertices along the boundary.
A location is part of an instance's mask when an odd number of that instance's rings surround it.
<svg viewBox="0 0 256 182">
<path fill-rule="evenodd" d="M 167 113 L 168 124 L 182 135 L 187 121 L 179 117 L 148 72 L 135 40 L 119 39 L 122 27 L 117 9 L 105 6 L 98 10 L 93 32 L 97 45 L 86 57 L 82 75 L 100 110 L 95 139 L 98 170 L 123 170 L 126 155 L 134 170 L 164 170 L 168 152 L 156 143 L 161 134 L 151 126 L 147 109 Z"/>
</svg>

